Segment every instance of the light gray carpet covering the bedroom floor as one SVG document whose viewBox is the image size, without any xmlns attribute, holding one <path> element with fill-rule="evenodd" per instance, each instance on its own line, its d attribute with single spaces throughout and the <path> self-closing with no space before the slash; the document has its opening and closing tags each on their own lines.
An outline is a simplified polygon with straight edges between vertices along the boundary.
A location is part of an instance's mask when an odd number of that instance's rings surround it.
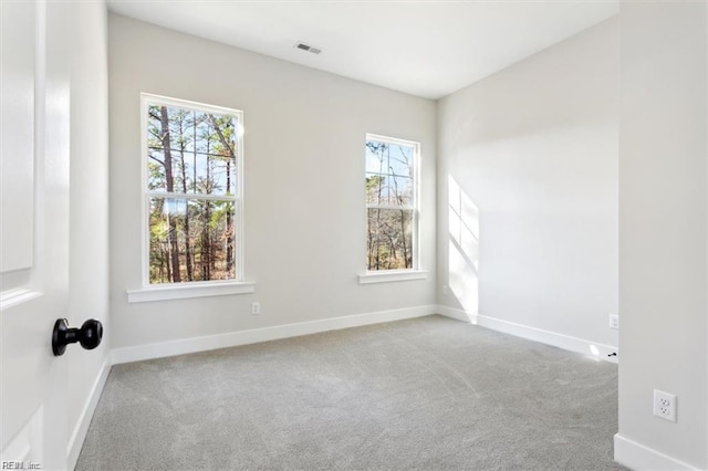
<svg viewBox="0 0 708 471">
<path fill-rule="evenodd" d="M 440 316 L 115 366 L 77 470 L 620 470 L 617 368 Z"/>
</svg>

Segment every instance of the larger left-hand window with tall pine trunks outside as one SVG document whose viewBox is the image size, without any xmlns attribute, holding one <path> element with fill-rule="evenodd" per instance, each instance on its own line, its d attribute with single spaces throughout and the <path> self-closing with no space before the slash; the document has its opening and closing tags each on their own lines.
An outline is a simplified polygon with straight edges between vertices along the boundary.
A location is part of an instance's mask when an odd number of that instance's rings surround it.
<svg viewBox="0 0 708 471">
<path fill-rule="evenodd" d="M 243 114 L 143 95 L 145 284 L 242 278 Z"/>
</svg>

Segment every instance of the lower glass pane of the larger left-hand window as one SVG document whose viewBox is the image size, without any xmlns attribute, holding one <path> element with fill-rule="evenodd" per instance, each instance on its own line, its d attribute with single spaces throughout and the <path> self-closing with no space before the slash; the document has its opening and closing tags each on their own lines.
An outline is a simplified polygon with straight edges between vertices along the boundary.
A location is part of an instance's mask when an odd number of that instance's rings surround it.
<svg viewBox="0 0 708 471">
<path fill-rule="evenodd" d="M 236 279 L 233 201 L 150 198 L 149 282 Z"/>
</svg>

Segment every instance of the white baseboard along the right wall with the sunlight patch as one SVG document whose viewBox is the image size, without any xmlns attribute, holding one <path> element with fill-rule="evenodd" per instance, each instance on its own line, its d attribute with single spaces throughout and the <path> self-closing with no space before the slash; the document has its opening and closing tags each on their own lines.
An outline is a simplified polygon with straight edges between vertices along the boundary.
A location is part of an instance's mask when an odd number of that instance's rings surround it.
<svg viewBox="0 0 708 471">
<path fill-rule="evenodd" d="M 480 325 L 491 328 L 492 331 L 503 332 L 504 334 L 514 335 L 517 337 L 528 338 L 530 341 L 540 342 L 542 344 L 552 345 L 554 347 L 575 352 L 579 354 L 592 356 L 611 363 L 617 363 L 616 356 L 608 356 L 617 352 L 612 345 L 598 344 L 583 338 L 572 337 L 570 335 L 559 334 L 558 332 L 544 331 L 542 328 L 531 327 L 523 324 L 517 324 L 509 321 L 502 321 L 481 314 L 467 313 L 462 310 L 439 305 L 437 312 L 446 317 L 451 317 L 462 322 Z"/>
</svg>

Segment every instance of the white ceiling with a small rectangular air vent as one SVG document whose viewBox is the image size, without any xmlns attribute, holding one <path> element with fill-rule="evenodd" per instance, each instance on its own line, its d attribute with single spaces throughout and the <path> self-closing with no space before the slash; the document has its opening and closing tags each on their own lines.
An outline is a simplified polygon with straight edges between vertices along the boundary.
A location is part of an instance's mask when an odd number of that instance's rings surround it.
<svg viewBox="0 0 708 471">
<path fill-rule="evenodd" d="M 108 0 L 116 13 L 427 98 L 597 24 L 618 3 Z M 323 52 L 294 49 L 296 41 Z"/>
</svg>

